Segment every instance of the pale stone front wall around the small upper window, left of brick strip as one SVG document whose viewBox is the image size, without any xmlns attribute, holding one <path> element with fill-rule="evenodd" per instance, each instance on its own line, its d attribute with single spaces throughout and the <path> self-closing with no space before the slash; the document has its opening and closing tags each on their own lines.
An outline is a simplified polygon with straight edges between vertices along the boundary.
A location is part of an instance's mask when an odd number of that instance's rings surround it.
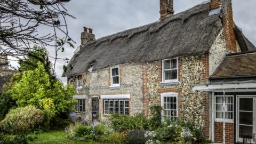
<svg viewBox="0 0 256 144">
<path fill-rule="evenodd" d="M 92 73 L 86 72 L 83 76 L 83 89 L 77 90 L 78 95 L 86 95 L 86 113 L 91 118 L 91 97 L 100 95 L 130 94 L 130 114 L 143 112 L 142 101 L 142 71 L 141 64 L 119 65 L 120 88 L 110 89 L 110 68 L 101 69 Z M 69 77 L 68 82 L 77 77 Z M 100 113 L 103 114 L 103 100 L 100 99 Z M 104 116 L 108 117 L 108 116 Z"/>
</svg>

